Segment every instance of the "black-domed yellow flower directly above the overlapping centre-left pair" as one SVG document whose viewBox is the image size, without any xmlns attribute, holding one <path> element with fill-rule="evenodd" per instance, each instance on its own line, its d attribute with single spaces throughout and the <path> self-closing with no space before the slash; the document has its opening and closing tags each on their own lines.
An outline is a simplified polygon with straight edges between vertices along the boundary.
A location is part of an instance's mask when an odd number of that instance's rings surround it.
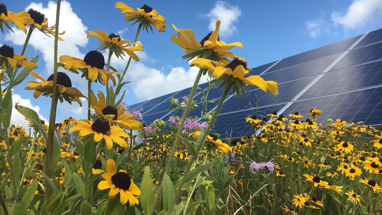
<svg viewBox="0 0 382 215">
<path fill-rule="evenodd" d="M 104 55 L 99 51 L 88 52 L 84 60 L 76 57 L 70 57 L 69 55 L 62 55 L 60 57 L 60 62 L 64 63 L 64 68 L 66 70 L 74 69 L 80 70 L 82 72 L 81 77 L 86 77 L 87 80 L 92 82 L 100 81 L 103 85 L 106 85 L 107 81 L 110 79 L 113 81 L 113 85 L 116 85 L 115 78 L 113 74 L 121 75 L 119 72 L 108 72 L 104 69 L 105 58 Z"/>
</svg>

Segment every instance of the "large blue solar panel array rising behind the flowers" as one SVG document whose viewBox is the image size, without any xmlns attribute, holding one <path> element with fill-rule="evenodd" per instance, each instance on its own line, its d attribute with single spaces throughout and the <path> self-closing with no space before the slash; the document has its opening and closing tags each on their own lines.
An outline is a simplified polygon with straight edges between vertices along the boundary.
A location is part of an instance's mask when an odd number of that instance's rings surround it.
<svg viewBox="0 0 382 215">
<path fill-rule="evenodd" d="M 299 112 L 305 118 L 313 108 L 322 110 L 317 122 L 340 118 L 344 121 L 363 121 L 367 125 L 382 125 L 382 29 L 351 37 L 327 46 L 309 50 L 285 59 L 253 68 L 253 73 L 265 80 L 278 82 L 279 94 L 248 86 L 247 98 L 228 94 L 214 130 L 221 135 L 226 131 L 232 137 L 248 135 L 246 116 L 277 112 L 287 116 Z M 199 85 L 207 88 L 208 83 Z M 143 119 L 150 124 L 155 119 L 168 120 L 172 116 L 171 96 L 182 100 L 191 88 L 129 106 L 130 111 L 143 107 Z M 223 90 L 211 90 L 208 99 L 219 99 Z M 194 100 L 199 100 L 196 92 Z M 251 106 L 256 106 L 253 109 Z M 200 116 L 202 108 L 195 108 Z M 217 103 L 210 103 L 214 110 Z"/>
</svg>

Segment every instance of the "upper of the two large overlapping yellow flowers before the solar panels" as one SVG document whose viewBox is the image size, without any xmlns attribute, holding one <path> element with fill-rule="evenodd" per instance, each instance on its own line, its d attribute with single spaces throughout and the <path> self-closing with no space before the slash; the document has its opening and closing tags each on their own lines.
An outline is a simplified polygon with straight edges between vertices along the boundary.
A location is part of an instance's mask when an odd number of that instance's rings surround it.
<svg viewBox="0 0 382 215">
<path fill-rule="evenodd" d="M 171 24 L 172 28 L 177 32 L 171 35 L 171 41 L 180 46 L 187 54 L 183 56 L 183 59 L 193 59 L 194 57 L 202 57 L 222 64 L 229 64 L 230 60 L 227 57 L 236 57 L 231 52 L 228 52 L 234 46 L 243 48 L 241 42 L 233 42 L 226 44 L 219 39 L 220 20 L 216 21 L 216 29 L 211 31 L 200 42 L 195 39 L 194 33 L 191 29 L 178 29 L 174 24 Z"/>
</svg>

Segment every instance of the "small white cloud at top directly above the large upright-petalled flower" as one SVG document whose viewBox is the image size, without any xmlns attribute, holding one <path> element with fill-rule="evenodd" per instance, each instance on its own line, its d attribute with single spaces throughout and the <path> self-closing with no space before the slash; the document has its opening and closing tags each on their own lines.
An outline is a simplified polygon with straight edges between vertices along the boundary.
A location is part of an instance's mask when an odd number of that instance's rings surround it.
<svg viewBox="0 0 382 215">
<path fill-rule="evenodd" d="M 236 31 L 235 22 L 238 21 L 241 15 L 241 10 L 238 6 L 233 6 L 227 2 L 217 1 L 215 7 L 206 14 L 210 18 L 209 29 L 214 30 L 216 28 L 216 20 L 220 20 L 219 34 L 221 36 L 230 36 Z"/>
</svg>

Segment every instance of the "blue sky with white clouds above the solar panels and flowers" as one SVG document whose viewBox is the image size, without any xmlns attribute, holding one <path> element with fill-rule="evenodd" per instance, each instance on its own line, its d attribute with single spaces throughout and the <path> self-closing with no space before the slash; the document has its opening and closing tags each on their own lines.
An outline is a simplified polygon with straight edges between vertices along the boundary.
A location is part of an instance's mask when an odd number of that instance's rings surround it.
<svg viewBox="0 0 382 215">
<path fill-rule="evenodd" d="M 114 8 L 113 1 L 81 0 L 63 1 L 60 14 L 60 32 L 63 42 L 59 42 L 59 55 L 83 58 L 97 46 L 95 38 L 86 39 L 84 31 L 99 29 L 118 32 L 123 39 L 133 41 L 137 25 L 124 22 L 124 15 Z M 197 40 L 201 40 L 214 29 L 215 21 L 222 21 L 220 39 L 225 42 L 240 41 L 244 49 L 235 47 L 232 52 L 248 61 L 249 67 L 256 67 L 274 60 L 298 54 L 306 50 L 324 46 L 367 31 L 381 28 L 382 0 L 353 1 L 129 1 L 130 7 L 151 5 L 167 20 L 165 33 L 154 34 L 142 31 L 138 41 L 144 50 L 137 52 L 140 61 L 134 62 L 126 73 L 125 85 L 127 104 L 134 104 L 150 98 L 181 90 L 193 84 L 197 70 L 181 59 L 185 53 L 170 36 L 175 33 L 171 23 L 178 28 L 191 28 Z M 6 3 L 8 11 L 19 12 L 33 8 L 48 18 L 49 26 L 55 23 L 55 2 L 51 1 L 11 1 Z M 213 28 L 212 28 L 213 27 Z M 21 51 L 25 34 L 13 28 L 15 33 L 5 30 L 0 34 L 0 43 Z M 53 73 L 53 37 L 39 31 L 32 33 L 31 42 L 25 55 L 40 55 L 34 70 L 42 77 Z M 111 65 L 119 71 L 125 68 L 127 59 L 113 57 Z M 60 70 L 60 71 L 63 71 Z M 87 94 L 86 80 L 69 74 L 73 86 Z M 205 78 L 203 78 L 204 80 Z M 34 80 L 32 76 L 27 80 Z M 93 90 L 103 90 L 96 83 Z M 24 91 L 25 86 L 14 89 L 14 102 L 34 108 L 43 119 L 49 118 L 50 98 L 34 99 L 32 91 Z M 63 116 L 85 118 L 87 102 L 83 107 L 77 104 L 58 105 L 57 121 Z M 13 111 L 12 123 L 26 125 L 21 115 Z"/>
</svg>

